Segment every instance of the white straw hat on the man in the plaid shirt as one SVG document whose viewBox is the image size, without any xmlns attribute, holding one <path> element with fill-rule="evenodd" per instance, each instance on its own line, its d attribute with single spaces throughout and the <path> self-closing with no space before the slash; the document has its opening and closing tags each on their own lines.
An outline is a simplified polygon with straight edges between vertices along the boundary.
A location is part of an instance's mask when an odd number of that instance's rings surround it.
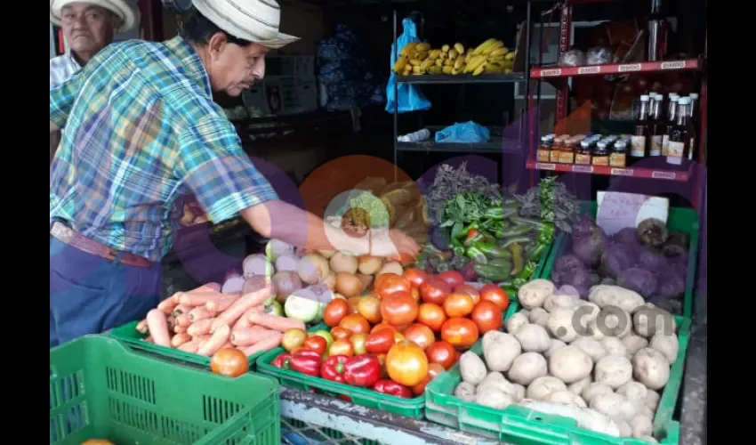
<svg viewBox="0 0 756 445">
<path fill-rule="evenodd" d="M 231 36 L 272 49 L 299 40 L 278 31 L 281 7 L 276 0 L 192 0 L 192 3 Z"/>
</svg>

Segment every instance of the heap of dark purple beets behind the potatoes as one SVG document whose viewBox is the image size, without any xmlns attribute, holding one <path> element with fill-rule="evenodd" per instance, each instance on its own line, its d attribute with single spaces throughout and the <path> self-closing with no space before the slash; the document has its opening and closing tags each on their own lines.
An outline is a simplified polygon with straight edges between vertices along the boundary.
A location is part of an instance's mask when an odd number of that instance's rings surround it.
<svg viewBox="0 0 756 445">
<path fill-rule="evenodd" d="M 616 285 L 675 314 L 682 312 L 688 274 L 687 234 L 647 219 L 611 237 L 590 216 L 575 223 L 567 249 L 554 263 L 551 279 L 587 297 L 591 286 Z"/>
</svg>

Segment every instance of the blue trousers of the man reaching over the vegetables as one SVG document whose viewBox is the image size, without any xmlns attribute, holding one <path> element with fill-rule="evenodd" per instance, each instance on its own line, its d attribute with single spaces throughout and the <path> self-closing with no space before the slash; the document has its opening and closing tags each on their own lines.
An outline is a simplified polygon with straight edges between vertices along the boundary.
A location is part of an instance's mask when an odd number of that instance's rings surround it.
<svg viewBox="0 0 756 445">
<path fill-rule="evenodd" d="M 50 236 L 50 347 L 141 320 L 157 306 L 160 263 L 128 266 Z"/>
</svg>

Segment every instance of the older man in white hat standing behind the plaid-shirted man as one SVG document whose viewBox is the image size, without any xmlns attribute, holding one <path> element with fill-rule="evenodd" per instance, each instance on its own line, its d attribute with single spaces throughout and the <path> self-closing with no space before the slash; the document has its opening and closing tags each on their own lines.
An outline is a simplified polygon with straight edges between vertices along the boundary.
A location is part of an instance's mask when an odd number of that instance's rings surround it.
<svg viewBox="0 0 756 445">
<path fill-rule="evenodd" d="M 50 21 L 63 30 L 68 43 L 65 54 L 50 59 L 52 90 L 112 43 L 118 32 L 137 26 L 139 8 L 125 0 L 50 0 Z M 50 135 L 51 163 L 59 142 L 60 132 Z"/>
</svg>

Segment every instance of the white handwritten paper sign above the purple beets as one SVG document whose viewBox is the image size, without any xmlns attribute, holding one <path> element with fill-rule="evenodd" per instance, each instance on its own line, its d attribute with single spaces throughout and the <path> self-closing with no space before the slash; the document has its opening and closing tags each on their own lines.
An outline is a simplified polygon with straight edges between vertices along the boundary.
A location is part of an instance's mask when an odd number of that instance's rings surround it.
<svg viewBox="0 0 756 445">
<path fill-rule="evenodd" d="M 648 218 L 655 218 L 667 223 L 670 200 L 635 193 L 617 191 L 599 191 L 596 193 L 599 209 L 596 223 L 607 236 L 638 224 Z"/>
</svg>

